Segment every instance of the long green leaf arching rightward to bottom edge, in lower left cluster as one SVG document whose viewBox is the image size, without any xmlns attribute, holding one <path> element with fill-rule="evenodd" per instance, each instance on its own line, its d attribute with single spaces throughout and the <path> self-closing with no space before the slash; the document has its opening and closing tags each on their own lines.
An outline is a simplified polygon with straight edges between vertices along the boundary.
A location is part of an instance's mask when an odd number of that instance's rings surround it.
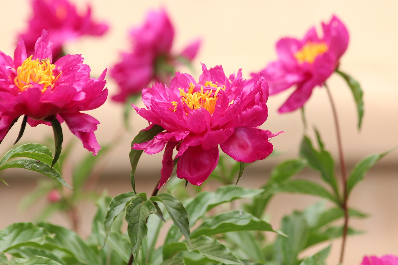
<svg viewBox="0 0 398 265">
<path fill-rule="evenodd" d="M 69 251 L 81 263 L 100 264 L 100 257 L 96 255 L 94 249 L 89 247 L 75 232 L 48 223 L 39 223 L 37 226 L 53 234 L 51 238 L 46 237 L 46 242 L 49 244 Z"/>
</svg>

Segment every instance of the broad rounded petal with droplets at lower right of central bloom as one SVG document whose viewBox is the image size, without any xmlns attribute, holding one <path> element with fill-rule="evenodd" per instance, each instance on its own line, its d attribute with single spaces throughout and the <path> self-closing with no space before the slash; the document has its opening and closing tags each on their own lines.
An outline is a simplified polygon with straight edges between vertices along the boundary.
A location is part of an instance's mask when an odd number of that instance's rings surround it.
<svg viewBox="0 0 398 265">
<path fill-rule="evenodd" d="M 268 133 L 254 127 L 235 128 L 234 133 L 222 144 L 221 150 L 238 162 L 252 163 L 269 156 L 273 146 Z"/>
</svg>

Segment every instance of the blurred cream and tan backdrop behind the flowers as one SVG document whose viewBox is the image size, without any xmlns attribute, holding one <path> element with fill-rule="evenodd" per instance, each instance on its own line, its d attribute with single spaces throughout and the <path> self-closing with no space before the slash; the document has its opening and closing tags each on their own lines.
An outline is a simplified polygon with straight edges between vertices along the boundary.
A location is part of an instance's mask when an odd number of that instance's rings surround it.
<svg viewBox="0 0 398 265">
<path fill-rule="evenodd" d="M 70 0 L 79 9 L 85 10 L 84 0 Z M 120 52 L 130 47 L 128 31 L 133 26 L 142 25 L 146 12 L 150 9 L 165 8 L 176 29 L 174 48 L 176 52 L 191 40 L 200 37 L 202 45 L 193 61 L 192 73 L 195 79 L 200 75 L 203 62 L 208 68 L 222 65 L 228 76 L 242 68 L 245 78 L 251 72 L 257 72 L 275 60 L 275 43 L 281 37 L 301 39 L 311 26 L 316 26 L 322 35 L 321 22 L 328 22 L 335 14 L 345 23 L 350 33 L 349 46 L 341 58 L 340 69 L 351 74 L 359 81 L 364 92 L 365 111 L 361 131 L 357 131 L 357 111 L 353 96 L 337 76 L 332 75 L 328 85 L 336 101 L 343 137 L 343 149 L 347 168 L 351 170 L 361 158 L 373 153 L 380 153 L 398 146 L 398 4 L 396 1 L 380 3 L 366 1 L 214 1 L 214 0 L 173 0 L 173 1 L 107 1 L 93 0 L 92 13 L 98 21 L 106 21 L 110 30 L 103 37 L 82 37 L 67 43 L 65 51 L 82 54 L 84 63 L 92 69 L 92 75 L 98 76 L 105 68 L 110 69 L 120 60 Z M 0 16 L 0 50 L 7 55 L 14 53 L 17 33 L 27 27 L 31 14 L 27 0 L 2 1 Z M 109 73 L 109 72 L 108 72 Z M 131 191 L 128 154 L 130 143 L 139 130 L 147 123 L 131 113 L 131 130 L 125 131 L 122 113 L 124 106 L 114 103 L 110 96 L 116 94 L 115 82 L 107 76 L 109 100 L 99 109 L 90 111 L 90 115 L 100 121 L 95 132 L 101 146 L 118 140 L 117 146 L 101 160 L 96 171 L 93 189 L 102 193 L 107 189 L 109 195 Z M 271 140 L 278 156 L 267 158 L 249 166 L 240 185 L 256 187 L 263 183 L 271 168 L 282 160 L 295 158 L 298 145 L 303 135 L 300 111 L 279 115 L 277 109 L 293 92 L 286 90 L 271 96 L 267 102 L 269 117 L 261 129 L 272 132 L 285 131 Z M 137 102 L 137 105 L 142 106 Z M 313 136 L 312 127 L 316 127 L 336 160 L 337 146 L 332 111 L 326 91 L 316 88 L 306 103 L 306 117 L 309 125 L 308 134 Z M 64 128 L 64 144 L 75 138 Z M 5 154 L 15 140 L 19 123 L 6 136 L 0 146 L 1 156 Z M 46 144 L 52 137 L 50 127 L 40 125 L 33 129 L 27 127 L 20 143 L 39 142 Z M 76 140 L 76 139 L 73 139 Z M 114 143 L 113 143 L 114 144 Z M 73 159 L 68 162 L 66 171 L 78 163 L 87 150 L 76 140 Z M 138 191 L 152 191 L 160 176 L 162 152 L 149 156 L 143 154 L 136 172 Z M 336 168 L 338 176 L 339 166 Z M 311 171 L 304 177 L 315 177 Z M 41 209 L 45 201 L 39 201 L 28 210 L 18 210 L 23 195 L 33 191 L 38 179 L 45 178 L 38 173 L 26 170 L 10 169 L 1 172 L 10 187 L 0 183 L 0 229 L 12 222 L 31 220 Z M 68 174 L 63 175 L 68 182 Z M 345 264 L 359 264 L 363 255 L 382 255 L 398 253 L 398 151 L 394 150 L 382 158 L 353 191 L 349 205 L 370 214 L 363 220 L 352 220 L 351 224 L 365 234 L 352 236 L 347 241 Z M 278 195 L 269 207 L 271 224 L 278 228 L 284 214 L 292 209 L 302 209 L 318 199 L 304 195 Z M 90 230 L 90 220 L 94 214 L 94 204 L 87 202 L 79 209 L 84 218 L 81 234 Z M 68 225 L 64 216 L 53 216 L 52 222 Z M 332 246 L 328 259 L 330 264 L 338 261 L 340 242 Z"/>
</svg>

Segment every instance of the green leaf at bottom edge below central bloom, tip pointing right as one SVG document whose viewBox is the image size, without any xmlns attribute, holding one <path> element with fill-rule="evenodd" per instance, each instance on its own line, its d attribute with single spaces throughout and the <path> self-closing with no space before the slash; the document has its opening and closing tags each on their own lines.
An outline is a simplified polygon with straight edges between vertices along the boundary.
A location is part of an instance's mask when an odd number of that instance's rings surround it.
<svg viewBox="0 0 398 265">
<path fill-rule="evenodd" d="M 224 264 L 243 265 L 234 254 L 232 254 L 219 241 L 207 236 L 199 236 L 191 240 L 192 247 L 186 242 L 173 242 L 165 245 L 163 249 L 164 259 L 176 255 L 180 251 L 189 251 L 199 253 L 211 260 L 219 261 Z"/>
</svg>

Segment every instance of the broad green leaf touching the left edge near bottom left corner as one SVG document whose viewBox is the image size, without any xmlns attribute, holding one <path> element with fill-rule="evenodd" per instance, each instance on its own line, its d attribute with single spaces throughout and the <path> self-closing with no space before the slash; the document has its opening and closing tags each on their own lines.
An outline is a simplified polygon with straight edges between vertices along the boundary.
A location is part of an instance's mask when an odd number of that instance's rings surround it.
<svg viewBox="0 0 398 265">
<path fill-rule="evenodd" d="M 8 252 L 26 242 L 43 244 L 49 233 L 32 223 L 14 223 L 0 232 L 0 252 Z"/>
</svg>

